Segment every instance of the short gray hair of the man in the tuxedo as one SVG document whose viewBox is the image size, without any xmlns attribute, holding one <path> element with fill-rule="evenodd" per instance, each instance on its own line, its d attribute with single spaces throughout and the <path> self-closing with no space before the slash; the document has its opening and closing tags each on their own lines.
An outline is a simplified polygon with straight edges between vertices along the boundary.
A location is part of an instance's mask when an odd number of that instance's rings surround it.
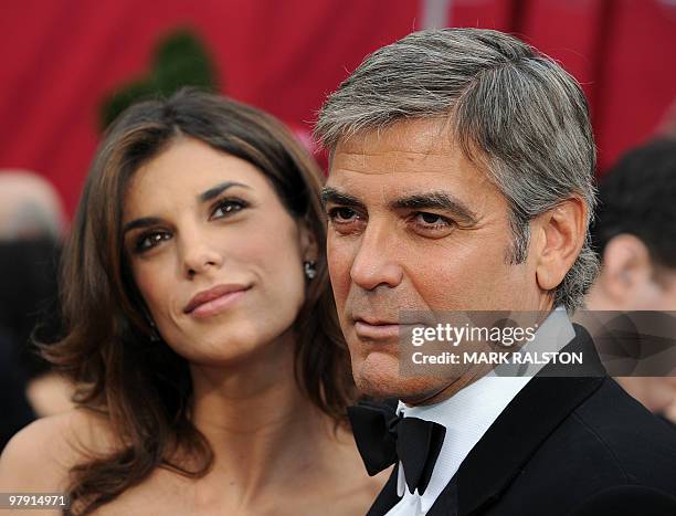
<svg viewBox="0 0 676 516">
<path fill-rule="evenodd" d="M 501 32 L 414 32 L 369 55 L 328 97 L 315 136 L 332 151 L 342 139 L 412 118 L 448 120 L 463 152 L 505 194 L 510 263 L 527 257 L 530 220 L 567 199 L 587 204 L 584 245 L 553 291 L 554 306 L 570 313 L 581 306 L 599 261 L 589 236 L 596 151 L 578 82 Z"/>
</svg>

